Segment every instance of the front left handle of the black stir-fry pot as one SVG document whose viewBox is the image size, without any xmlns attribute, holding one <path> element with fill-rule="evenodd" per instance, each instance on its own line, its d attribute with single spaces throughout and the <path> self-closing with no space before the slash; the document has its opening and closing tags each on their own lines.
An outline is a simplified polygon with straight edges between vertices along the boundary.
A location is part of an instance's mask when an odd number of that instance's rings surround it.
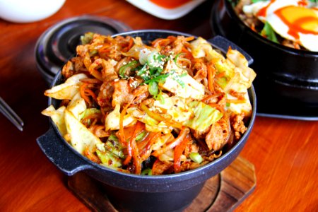
<svg viewBox="0 0 318 212">
<path fill-rule="evenodd" d="M 56 165 L 65 175 L 75 175 L 82 170 L 89 170 L 93 167 L 86 161 L 74 154 L 57 136 L 53 127 L 42 136 L 37 138 L 37 144 L 49 160 Z"/>
</svg>

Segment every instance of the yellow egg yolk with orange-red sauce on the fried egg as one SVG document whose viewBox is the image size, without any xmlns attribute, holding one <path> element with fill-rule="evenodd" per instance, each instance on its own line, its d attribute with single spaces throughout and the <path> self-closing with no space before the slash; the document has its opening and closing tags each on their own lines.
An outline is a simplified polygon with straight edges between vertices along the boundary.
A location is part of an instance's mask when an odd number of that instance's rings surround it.
<svg viewBox="0 0 318 212">
<path fill-rule="evenodd" d="M 314 9 L 285 6 L 274 13 L 288 26 L 288 34 L 296 39 L 298 33 L 318 35 L 318 12 Z"/>
</svg>

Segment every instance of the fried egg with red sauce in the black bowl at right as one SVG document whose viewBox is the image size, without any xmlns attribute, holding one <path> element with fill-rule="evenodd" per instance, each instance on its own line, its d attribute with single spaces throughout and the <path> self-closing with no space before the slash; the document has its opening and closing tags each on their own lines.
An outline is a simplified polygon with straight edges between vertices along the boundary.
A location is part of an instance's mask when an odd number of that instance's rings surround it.
<svg viewBox="0 0 318 212">
<path fill-rule="evenodd" d="M 243 7 L 285 39 L 318 52 L 318 4 L 307 0 L 258 1 Z"/>
</svg>

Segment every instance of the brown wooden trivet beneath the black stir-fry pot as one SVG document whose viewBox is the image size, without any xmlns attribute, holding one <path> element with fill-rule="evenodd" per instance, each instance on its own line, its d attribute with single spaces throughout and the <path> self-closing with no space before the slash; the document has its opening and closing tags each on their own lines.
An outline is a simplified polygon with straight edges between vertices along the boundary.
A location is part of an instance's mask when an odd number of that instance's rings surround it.
<svg viewBox="0 0 318 212">
<path fill-rule="evenodd" d="M 254 165 L 239 156 L 219 175 L 206 181 L 199 196 L 184 212 L 233 211 L 254 191 L 255 186 Z M 91 211 L 117 212 L 98 182 L 88 175 L 79 172 L 69 177 L 68 187 Z"/>
</svg>

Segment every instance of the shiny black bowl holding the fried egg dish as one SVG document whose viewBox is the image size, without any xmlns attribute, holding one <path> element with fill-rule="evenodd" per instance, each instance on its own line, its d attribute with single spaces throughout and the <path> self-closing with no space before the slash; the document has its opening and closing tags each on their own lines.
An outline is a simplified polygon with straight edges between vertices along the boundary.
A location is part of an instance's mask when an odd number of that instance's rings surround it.
<svg viewBox="0 0 318 212">
<path fill-rule="evenodd" d="M 318 120 L 318 52 L 284 47 L 261 37 L 240 20 L 231 2 L 213 4 L 212 31 L 253 57 L 257 114 Z"/>
</svg>

